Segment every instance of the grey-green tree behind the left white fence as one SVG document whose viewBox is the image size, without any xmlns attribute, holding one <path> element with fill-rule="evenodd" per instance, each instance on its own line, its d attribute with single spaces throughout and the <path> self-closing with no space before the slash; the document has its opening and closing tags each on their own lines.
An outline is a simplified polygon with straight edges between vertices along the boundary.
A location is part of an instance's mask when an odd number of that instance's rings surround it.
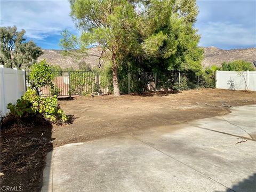
<svg viewBox="0 0 256 192">
<path fill-rule="evenodd" d="M 29 68 L 43 54 L 33 41 L 26 42 L 25 30 L 17 27 L 0 27 L 0 63 L 6 67 Z"/>
</svg>

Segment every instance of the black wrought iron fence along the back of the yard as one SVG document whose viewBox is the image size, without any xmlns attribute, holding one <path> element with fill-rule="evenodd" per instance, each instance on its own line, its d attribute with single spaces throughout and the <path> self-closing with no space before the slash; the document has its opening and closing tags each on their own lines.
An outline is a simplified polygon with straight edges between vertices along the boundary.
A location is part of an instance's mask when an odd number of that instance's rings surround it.
<svg viewBox="0 0 256 192">
<path fill-rule="evenodd" d="M 27 87 L 30 71 L 26 71 Z M 172 91 L 215 87 L 214 75 L 197 76 L 194 73 L 127 73 L 118 76 L 122 94 L 153 91 Z M 58 95 L 111 94 L 111 74 L 94 71 L 52 71 L 52 86 L 41 87 L 43 97 Z"/>
</svg>

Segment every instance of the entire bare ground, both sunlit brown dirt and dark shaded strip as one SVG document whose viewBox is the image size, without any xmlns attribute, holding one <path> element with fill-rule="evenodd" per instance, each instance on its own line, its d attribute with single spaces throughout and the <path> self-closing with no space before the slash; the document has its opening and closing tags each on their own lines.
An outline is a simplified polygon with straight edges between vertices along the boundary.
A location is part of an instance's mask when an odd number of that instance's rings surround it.
<svg viewBox="0 0 256 192">
<path fill-rule="evenodd" d="M 53 147 L 225 115 L 230 106 L 256 103 L 256 92 L 207 89 L 81 97 L 59 103 L 66 114 L 74 116 L 73 123 L 52 126 L 34 122 L 1 129 L 2 186 L 39 191 L 45 156 Z"/>
</svg>

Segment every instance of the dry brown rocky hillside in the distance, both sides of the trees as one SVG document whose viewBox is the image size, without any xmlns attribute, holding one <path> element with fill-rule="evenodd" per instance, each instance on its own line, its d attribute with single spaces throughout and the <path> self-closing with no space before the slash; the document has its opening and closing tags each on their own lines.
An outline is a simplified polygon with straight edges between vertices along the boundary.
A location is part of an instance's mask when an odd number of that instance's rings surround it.
<svg viewBox="0 0 256 192">
<path fill-rule="evenodd" d="M 204 49 L 204 60 L 202 62 L 204 67 L 211 65 L 221 66 L 224 61 L 234 61 L 238 59 L 246 60 L 252 62 L 256 60 L 256 48 L 250 49 L 233 49 L 233 50 L 222 50 L 217 47 L 203 47 Z M 89 63 L 92 67 L 97 66 L 99 63 L 99 58 L 96 56 L 85 56 L 81 60 L 76 60 L 71 57 L 63 57 L 60 50 L 43 50 L 44 54 L 41 55 L 38 60 L 46 59 L 47 62 L 52 63 L 52 65 L 59 65 L 61 68 L 71 68 L 78 69 L 78 63 L 80 61 L 85 61 Z M 101 51 L 97 48 L 91 48 L 89 54 L 100 55 Z"/>
</svg>

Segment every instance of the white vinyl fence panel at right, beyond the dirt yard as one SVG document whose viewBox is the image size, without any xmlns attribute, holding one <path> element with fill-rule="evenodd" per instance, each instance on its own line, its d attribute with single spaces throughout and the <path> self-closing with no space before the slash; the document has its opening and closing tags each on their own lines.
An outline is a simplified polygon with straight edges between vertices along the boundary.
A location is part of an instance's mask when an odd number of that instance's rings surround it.
<svg viewBox="0 0 256 192">
<path fill-rule="evenodd" d="M 216 71 L 216 88 L 256 91 L 256 71 Z"/>
</svg>

